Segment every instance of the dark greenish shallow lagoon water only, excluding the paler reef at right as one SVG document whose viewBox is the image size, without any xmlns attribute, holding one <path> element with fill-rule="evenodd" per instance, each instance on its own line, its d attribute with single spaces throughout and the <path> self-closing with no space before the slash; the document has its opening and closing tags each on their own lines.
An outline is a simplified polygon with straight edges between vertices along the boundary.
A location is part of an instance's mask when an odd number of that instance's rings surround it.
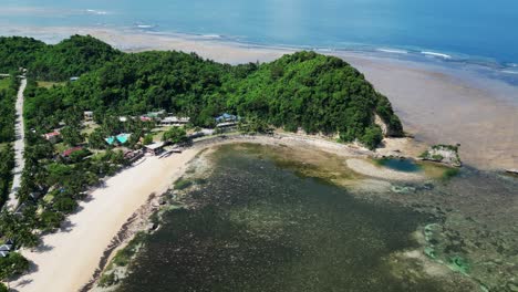
<svg viewBox="0 0 518 292">
<path fill-rule="evenodd" d="M 463 291 L 393 267 L 437 218 L 359 200 L 271 150 L 217 150 L 214 171 L 185 195 L 190 208 L 165 215 L 120 291 Z"/>
</svg>

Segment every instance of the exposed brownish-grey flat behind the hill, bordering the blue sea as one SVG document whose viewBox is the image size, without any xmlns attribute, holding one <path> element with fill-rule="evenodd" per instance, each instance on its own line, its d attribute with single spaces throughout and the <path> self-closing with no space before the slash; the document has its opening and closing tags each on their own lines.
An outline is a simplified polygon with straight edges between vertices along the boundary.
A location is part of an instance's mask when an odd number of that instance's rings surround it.
<svg viewBox="0 0 518 292">
<path fill-rule="evenodd" d="M 91 34 L 125 51 L 196 52 L 231 64 L 272 61 L 294 51 L 196 35 L 149 34 L 110 28 L 31 27 L 11 29 L 8 33 L 54 38 L 55 41 L 74 33 Z M 460 143 L 463 160 L 477 168 L 518 168 L 518 86 L 463 69 L 354 52 L 322 53 L 340 56 L 365 74 L 375 88 L 388 97 L 405 129 L 417 140 Z"/>
</svg>

